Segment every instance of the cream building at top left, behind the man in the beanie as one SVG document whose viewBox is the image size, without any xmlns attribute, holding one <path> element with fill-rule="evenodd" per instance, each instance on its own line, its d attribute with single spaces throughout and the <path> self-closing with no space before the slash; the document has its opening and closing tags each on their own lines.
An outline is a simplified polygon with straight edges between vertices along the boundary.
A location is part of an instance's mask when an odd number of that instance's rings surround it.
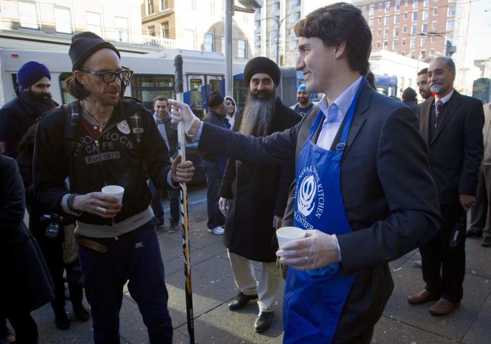
<svg viewBox="0 0 491 344">
<path fill-rule="evenodd" d="M 0 0 L 2 47 L 68 51 L 72 36 L 92 31 L 122 52 L 151 53 L 158 48 L 142 35 L 142 0 Z"/>
</svg>

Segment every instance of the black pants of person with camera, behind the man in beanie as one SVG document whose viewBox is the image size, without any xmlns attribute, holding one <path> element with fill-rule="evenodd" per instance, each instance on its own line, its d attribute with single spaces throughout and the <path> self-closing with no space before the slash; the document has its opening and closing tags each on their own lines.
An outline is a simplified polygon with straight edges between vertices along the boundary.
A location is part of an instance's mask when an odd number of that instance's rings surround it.
<svg viewBox="0 0 491 344">
<path fill-rule="evenodd" d="M 64 312 L 65 307 L 65 286 L 63 280 L 64 269 L 70 268 L 69 264 L 63 261 L 63 248 L 60 239 L 49 240 L 38 238 L 39 247 L 46 265 L 50 271 L 51 279 L 55 285 L 55 298 L 51 301 L 51 306 L 55 313 Z M 68 290 L 70 292 L 70 301 L 73 306 L 82 304 L 83 286 L 81 283 L 74 283 L 68 279 Z"/>
</svg>

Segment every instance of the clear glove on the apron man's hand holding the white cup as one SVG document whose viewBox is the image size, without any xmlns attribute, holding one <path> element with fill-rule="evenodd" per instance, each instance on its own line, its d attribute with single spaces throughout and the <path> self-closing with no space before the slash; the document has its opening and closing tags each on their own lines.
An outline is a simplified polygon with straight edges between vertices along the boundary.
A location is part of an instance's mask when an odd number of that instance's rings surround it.
<svg viewBox="0 0 491 344">
<path fill-rule="evenodd" d="M 305 238 L 284 244 L 276 255 L 280 263 L 307 271 L 339 263 L 338 239 L 317 229 L 305 231 Z"/>
</svg>

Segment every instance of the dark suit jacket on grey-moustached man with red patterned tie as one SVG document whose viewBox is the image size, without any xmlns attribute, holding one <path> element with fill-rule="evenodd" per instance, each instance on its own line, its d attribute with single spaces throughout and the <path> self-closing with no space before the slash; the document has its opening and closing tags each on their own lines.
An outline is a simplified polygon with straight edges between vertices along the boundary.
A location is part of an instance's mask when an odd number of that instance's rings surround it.
<svg viewBox="0 0 491 344">
<path fill-rule="evenodd" d="M 430 169 L 442 205 L 459 204 L 459 193 L 475 195 L 483 156 L 484 112 L 480 100 L 454 90 L 430 140 L 435 99 L 418 107 L 419 129 L 428 146 Z"/>
</svg>

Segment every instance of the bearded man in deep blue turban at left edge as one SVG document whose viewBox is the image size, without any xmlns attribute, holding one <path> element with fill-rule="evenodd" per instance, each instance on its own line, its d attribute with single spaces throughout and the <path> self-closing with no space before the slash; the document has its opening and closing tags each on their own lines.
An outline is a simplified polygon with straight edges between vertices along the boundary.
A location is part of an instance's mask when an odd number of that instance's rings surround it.
<svg viewBox="0 0 491 344">
<path fill-rule="evenodd" d="M 58 106 L 51 99 L 51 73 L 42 63 L 29 61 L 17 71 L 17 96 L 0 109 L 0 141 L 5 156 L 16 159 L 17 144 L 36 118 Z"/>
</svg>

